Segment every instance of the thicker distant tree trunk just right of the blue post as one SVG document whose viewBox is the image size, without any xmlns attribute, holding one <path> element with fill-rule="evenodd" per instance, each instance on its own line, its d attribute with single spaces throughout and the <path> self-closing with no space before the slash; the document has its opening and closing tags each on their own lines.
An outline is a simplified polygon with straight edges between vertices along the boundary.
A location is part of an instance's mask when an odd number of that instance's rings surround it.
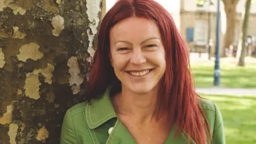
<svg viewBox="0 0 256 144">
<path fill-rule="evenodd" d="M 235 39 L 235 26 L 236 26 L 236 5 L 239 0 L 222 0 L 225 13 L 226 13 L 226 33 L 224 36 L 224 44 L 221 49 L 221 57 L 226 57 L 226 49 L 230 49 L 230 47 L 234 43 Z"/>
</svg>

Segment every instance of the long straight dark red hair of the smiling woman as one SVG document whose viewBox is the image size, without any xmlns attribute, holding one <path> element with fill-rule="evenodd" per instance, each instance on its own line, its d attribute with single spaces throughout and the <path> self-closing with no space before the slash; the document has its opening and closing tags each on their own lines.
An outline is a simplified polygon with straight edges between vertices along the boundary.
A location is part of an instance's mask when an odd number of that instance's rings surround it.
<svg viewBox="0 0 256 144">
<path fill-rule="evenodd" d="M 166 71 L 157 99 L 158 115 L 170 116 L 170 123 L 177 126 L 176 136 L 183 131 L 188 133 L 189 140 L 207 143 L 210 126 L 195 93 L 188 47 L 171 15 L 153 0 L 119 0 L 106 13 L 98 31 L 86 99 L 100 97 L 109 85 L 121 86 L 110 64 L 109 31 L 119 21 L 133 16 L 154 21 L 165 47 Z"/>
</svg>

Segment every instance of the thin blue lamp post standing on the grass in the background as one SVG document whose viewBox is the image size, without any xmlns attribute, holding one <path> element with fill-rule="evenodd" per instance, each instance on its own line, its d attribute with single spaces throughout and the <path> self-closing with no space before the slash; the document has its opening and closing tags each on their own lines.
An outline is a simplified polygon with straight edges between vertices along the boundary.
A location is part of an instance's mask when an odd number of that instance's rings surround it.
<svg viewBox="0 0 256 144">
<path fill-rule="evenodd" d="M 220 85 L 220 0 L 217 3 L 214 85 Z"/>
</svg>

